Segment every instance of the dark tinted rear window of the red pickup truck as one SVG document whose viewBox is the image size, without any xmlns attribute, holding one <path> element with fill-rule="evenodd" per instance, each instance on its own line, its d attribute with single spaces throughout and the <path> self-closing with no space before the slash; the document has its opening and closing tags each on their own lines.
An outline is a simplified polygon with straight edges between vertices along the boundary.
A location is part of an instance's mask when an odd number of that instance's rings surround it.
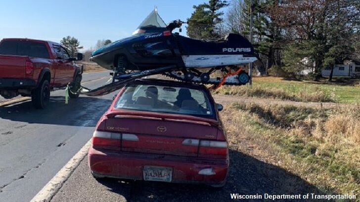
<svg viewBox="0 0 360 202">
<path fill-rule="evenodd" d="M 31 41 L 2 41 L 0 43 L 0 54 L 49 58 L 49 54 L 44 43 Z"/>
</svg>

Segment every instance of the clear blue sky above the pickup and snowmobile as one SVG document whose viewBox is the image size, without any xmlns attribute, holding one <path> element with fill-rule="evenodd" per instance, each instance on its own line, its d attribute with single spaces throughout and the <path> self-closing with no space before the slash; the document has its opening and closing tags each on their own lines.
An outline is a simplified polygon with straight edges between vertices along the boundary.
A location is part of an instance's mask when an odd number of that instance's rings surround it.
<svg viewBox="0 0 360 202">
<path fill-rule="evenodd" d="M 165 23 L 186 20 L 192 6 L 207 0 L 4 0 L 0 3 L 0 39 L 27 37 L 59 42 L 71 35 L 85 49 L 98 39 L 131 35 L 158 8 Z M 183 26 L 182 34 L 185 34 Z"/>
</svg>

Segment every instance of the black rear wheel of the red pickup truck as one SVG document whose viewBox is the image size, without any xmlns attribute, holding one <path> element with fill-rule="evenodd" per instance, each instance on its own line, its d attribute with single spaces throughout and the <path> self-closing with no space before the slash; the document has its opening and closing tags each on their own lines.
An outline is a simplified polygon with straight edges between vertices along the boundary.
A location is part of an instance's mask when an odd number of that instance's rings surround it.
<svg viewBox="0 0 360 202">
<path fill-rule="evenodd" d="M 31 101 L 37 109 L 44 109 L 50 100 L 49 82 L 44 80 L 31 94 Z"/>
</svg>

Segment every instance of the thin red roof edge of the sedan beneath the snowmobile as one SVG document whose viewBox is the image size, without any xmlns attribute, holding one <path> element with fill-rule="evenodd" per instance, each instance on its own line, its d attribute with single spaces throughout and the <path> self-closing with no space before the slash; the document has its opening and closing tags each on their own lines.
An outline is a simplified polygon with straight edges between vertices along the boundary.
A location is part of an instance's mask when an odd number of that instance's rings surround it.
<svg viewBox="0 0 360 202">
<path fill-rule="evenodd" d="M 182 88 L 207 89 L 202 84 L 194 84 L 189 82 L 163 80 L 163 79 L 155 79 L 155 78 L 136 79 L 135 81 L 129 82 L 127 85 L 130 84 L 148 84 L 148 85 L 165 85 L 165 86 L 169 85 L 173 87 L 182 87 Z"/>
</svg>

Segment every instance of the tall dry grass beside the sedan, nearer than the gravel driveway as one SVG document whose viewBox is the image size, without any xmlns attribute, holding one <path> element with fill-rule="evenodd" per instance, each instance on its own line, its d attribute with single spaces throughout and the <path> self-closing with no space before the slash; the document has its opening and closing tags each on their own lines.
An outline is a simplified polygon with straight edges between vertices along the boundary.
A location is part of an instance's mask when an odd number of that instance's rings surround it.
<svg viewBox="0 0 360 202">
<path fill-rule="evenodd" d="M 322 109 L 235 103 L 225 107 L 222 117 L 230 146 L 238 134 L 251 134 L 245 137 L 248 141 L 275 154 L 272 164 L 327 193 L 360 196 L 360 106 Z"/>
</svg>

